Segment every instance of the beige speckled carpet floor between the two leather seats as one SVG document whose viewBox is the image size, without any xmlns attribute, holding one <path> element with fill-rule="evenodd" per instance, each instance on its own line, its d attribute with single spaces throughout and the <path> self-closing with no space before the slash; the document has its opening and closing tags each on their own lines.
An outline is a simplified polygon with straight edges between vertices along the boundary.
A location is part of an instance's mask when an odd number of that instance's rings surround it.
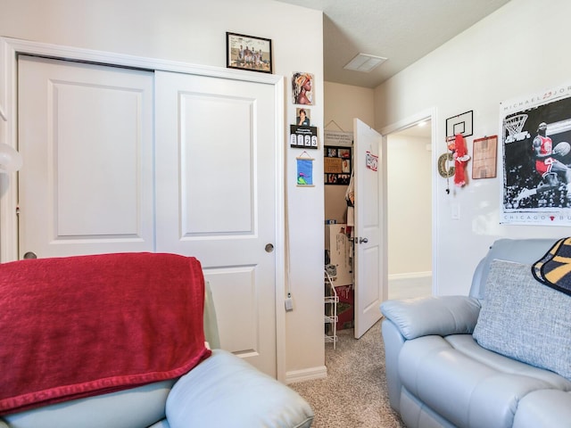
<svg viewBox="0 0 571 428">
<path fill-rule="evenodd" d="M 380 325 L 360 340 L 338 331 L 336 350 L 326 343 L 327 378 L 289 385 L 313 408 L 314 428 L 404 428 L 389 406 Z"/>
</svg>

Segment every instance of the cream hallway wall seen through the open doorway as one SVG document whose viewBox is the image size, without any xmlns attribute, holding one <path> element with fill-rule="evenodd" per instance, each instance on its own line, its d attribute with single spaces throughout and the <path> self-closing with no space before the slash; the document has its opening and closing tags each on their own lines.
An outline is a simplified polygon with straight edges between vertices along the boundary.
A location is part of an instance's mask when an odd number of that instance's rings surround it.
<svg viewBox="0 0 571 428">
<path fill-rule="evenodd" d="M 432 152 L 429 138 L 387 136 L 388 274 L 432 271 Z"/>
</svg>

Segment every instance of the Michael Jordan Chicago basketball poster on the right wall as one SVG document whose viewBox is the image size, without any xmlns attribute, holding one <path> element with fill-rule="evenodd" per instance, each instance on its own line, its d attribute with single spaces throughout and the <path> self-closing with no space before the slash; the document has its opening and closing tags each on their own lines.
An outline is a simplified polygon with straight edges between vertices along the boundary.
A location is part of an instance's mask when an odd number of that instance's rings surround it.
<svg viewBox="0 0 571 428">
<path fill-rule="evenodd" d="M 500 108 L 501 223 L 571 226 L 571 85 Z"/>
</svg>

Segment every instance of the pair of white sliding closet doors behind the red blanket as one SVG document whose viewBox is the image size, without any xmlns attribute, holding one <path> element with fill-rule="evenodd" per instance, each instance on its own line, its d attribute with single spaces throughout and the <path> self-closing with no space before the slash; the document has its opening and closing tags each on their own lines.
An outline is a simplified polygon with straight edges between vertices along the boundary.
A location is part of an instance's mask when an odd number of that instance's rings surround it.
<svg viewBox="0 0 571 428">
<path fill-rule="evenodd" d="M 275 79 L 25 55 L 18 69 L 19 257 L 194 256 L 222 348 L 276 376 Z"/>
</svg>

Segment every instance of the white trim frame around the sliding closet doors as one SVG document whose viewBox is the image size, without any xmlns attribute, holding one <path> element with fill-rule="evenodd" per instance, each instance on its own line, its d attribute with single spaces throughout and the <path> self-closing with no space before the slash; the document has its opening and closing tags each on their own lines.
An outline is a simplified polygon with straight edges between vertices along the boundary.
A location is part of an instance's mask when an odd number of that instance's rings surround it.
<svg viewBox="0 0 571 428">
<path fill-rule="evenodd" d="M 0 143 L 18 147 L 17 82 L 18 55 L 96 63 L 142 70 L 174 71 L 185 74 L 228 78 L 274 86 L 276 100 L 276 373 L 285 382 L 285 130 L 284 77 L 276 74 L 252 73 L 187 62 L 158 60 L 140 56 L 110 53 L 73 46 L 30 42 L 0 37 Z M 0 174 L 0 262 L 18 259 L 18 174 Z"/>
</svg>

